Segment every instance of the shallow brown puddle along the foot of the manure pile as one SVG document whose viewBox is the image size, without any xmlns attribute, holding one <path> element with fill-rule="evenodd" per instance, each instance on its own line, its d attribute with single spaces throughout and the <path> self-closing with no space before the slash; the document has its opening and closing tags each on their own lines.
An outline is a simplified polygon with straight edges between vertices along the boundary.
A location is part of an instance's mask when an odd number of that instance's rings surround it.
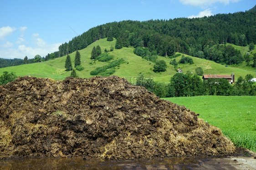
<svg viewBox="0 0 256 170">
<path fill-rule="evenodd" d="M 1 170 L 169 170 L 196 166 L 199 161 L 191 157 L 155 160 L 84 160 L 76 158 L 23 158 L 0 160 Z M 176 168 L 175 168 L 176 167 Z M 178 169 L 179 169 L 178 168 Z"/>
</svg>

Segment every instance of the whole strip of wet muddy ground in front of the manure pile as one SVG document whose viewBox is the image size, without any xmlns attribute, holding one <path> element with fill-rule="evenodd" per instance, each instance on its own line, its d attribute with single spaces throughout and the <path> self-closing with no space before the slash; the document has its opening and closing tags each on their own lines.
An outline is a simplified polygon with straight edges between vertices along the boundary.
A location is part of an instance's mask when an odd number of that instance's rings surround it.
<svg viewBox="0 0 256 170">
<path fill-rule="evenodd" d="M 25 158 L 0 160 L 1 170 L 256 170 L 256 153 L 220 158 L 173 157 L 154 160 Z"/>
</svg>

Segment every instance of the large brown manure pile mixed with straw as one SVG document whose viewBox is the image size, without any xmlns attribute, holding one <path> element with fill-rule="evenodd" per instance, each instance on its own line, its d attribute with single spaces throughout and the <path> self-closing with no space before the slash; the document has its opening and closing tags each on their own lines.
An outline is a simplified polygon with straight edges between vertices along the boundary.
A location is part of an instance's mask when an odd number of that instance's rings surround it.
<svg viewBox="0 0 256 170">
<path fill-rule="evenodd" d="M 20 77 L 0 86 L 0 158 L 152 159 L 236 147 L 184 106 L 117 76 Z"/>
</svg>

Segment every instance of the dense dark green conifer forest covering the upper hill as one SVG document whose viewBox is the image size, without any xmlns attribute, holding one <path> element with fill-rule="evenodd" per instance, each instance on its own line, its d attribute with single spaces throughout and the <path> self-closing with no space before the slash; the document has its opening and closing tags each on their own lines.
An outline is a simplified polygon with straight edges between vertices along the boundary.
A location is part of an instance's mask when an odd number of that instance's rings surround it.
<svg viewBox="0 0 256 170">
<path fill-rule="evenodd" d="M 59 46 L 55 55 L 67 55 L 81 50 L 92 42 L 108 37 L 117 38 L 117 48 L 123 46 L 148 47 L 158 55 L 173 55 L 181 52 L 197 56 L 205 52 L 205 47 L 231 43 L 240 46 L 256 44 L 256 11 L 217 14 L 203 18 L 175 18 L 170 20 L 112 22 L 94 27 Z"/>
</svg>

